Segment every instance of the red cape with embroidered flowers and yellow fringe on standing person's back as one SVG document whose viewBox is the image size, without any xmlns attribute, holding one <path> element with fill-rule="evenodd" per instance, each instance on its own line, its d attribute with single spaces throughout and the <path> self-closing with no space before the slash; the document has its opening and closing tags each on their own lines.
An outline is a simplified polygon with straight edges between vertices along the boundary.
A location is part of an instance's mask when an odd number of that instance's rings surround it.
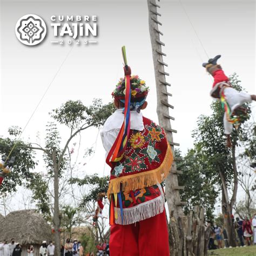
<svg viewBox="0 0 256 256">
<path fill-rule="evenodd" d="M 107 195 L 138 190 L 161 183 L 173 161 L 163 128 L 143 117 L 145 129 L 131 130 L 123 158 L 111 169 Z"/>
</svg>

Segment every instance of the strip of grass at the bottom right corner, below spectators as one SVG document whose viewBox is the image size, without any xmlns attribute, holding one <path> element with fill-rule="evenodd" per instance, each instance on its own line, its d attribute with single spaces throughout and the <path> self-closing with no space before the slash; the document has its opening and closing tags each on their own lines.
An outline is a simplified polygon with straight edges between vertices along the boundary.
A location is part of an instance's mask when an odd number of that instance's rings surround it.
<svg viewBox="0 0 256 256">
<path fill-rule="evenodd" d="M 208 251 L 208 255 L 256 256 L 256 245 Z"/>
</svg>

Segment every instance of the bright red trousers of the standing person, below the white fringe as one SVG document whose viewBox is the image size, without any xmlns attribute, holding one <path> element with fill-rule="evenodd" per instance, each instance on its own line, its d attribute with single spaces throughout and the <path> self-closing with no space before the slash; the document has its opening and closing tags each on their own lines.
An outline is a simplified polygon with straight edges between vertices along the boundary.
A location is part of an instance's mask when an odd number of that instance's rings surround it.
<svg viewBox="0 0 256 256">
<path fill-rule="evenodd" d="M 111 225 L 111 256 L 169 256 L 165 211 L 130 225 Z"/>
</svg>

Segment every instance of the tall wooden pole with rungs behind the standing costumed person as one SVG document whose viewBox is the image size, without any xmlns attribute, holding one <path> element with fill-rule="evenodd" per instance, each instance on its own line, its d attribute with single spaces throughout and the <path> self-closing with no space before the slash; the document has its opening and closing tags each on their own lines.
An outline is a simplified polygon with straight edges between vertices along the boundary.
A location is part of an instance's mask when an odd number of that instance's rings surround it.
<svg viewBox="0 0 256 256">
<path fill-rule="evenodd" d="M 163 56 L 166 56 L 166 54 L 161 49 L 165 44 L 160 40 L 160 35 L 163 36 L 163 33 L 159 30 L 159 26 L 162 24 L 158 21 L 158 16 L 161 15 L 157 8 L 160 8 L 160 6 L 156 4 L 156 0 L 147 0 L 147 6 L 149 8 L 149 31 L 152 45 L 154 74 L 156 78 L 157 115 L 159 125 L 164 128 L 174 155 L 173 146 L 179 146 L 179 144 L 173 142 L 172 133 L 176 133 L 177 131 L 172 129 L 170 122 L 170 120 L 174 120 L 169 113 L 169 109 L 173 109 L 173 106 L 169 103 L 169 97 L 172 95 L 167 92 L 167 86 L 171 86 L 171 84 L 166 82 L 166 76 L 169 76 L 169 73 L 165 72 L 164 69 L 165 66 L 168 66 L 163 61 Z M 173 252 L 171 255 L 180 254 L 179 252 L 182 251 L 184 242 L 182 235 L 183 227 L 180 218 L 184 216 L 182 206 L 186 203 L 181 202 L 180 200 L 179 190 L 183 189 L 183 187 L 178 185 L 177 174 L 182 174 L 182 172 L 177 170 L 174 159 L 170 175 L 167 177 L 165 183 L 167 205 L 170 212 L 170 246 L 171 251 Z"/>
</svg>

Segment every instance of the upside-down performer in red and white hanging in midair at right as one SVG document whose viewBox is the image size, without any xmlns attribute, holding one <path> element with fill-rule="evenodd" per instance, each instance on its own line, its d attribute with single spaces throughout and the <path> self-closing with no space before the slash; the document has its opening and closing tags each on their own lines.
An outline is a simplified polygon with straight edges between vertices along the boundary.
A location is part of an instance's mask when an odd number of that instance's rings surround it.
<svg viewBox="0 0 256 256">
<path fill-rule="evenodd" d="M 250 103 L 256 100 L 256 95 L 250 95 L 247 92 L 238 92 L 230 83 L 221 66 L 217 64 L 217 60 L 221 55 L 217 55 L 209 59 L 207 63 L 203 63 L 203 67 L 213 76 L 214 82 L 210 95 L 213 98 L 221 100 L 221 104 L 225 109 L 223 118 L 224 133 L 227 135 L 227 146 L 231 147 L 230 134 L 233 130 L 233 124 L 239 125 L 241 115 L 247 114 L 242 105 L 246 102 Z"/>
</svg>

